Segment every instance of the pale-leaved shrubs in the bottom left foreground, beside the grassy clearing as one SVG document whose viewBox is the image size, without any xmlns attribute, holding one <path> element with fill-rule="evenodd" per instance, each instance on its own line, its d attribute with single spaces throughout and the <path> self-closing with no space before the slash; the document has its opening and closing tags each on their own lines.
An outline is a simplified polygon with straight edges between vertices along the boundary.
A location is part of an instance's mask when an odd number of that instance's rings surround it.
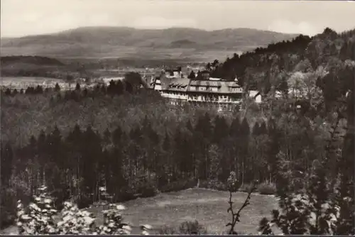
<svg viewBox="0 0 355 237">
<path fill-rule="evenodd" d="M 121 211 L 125 208 L 120 204 L 109 204 L 109 209 L 102 211 L 104 214 L 104 225 L 96 226 L 95 216 L 89 211 L 78 209 L 77 205 L 71 202 L 63 204 L 60 216 L 56 222 L 55 214 L 58 213 L 53 208 L 53 198 L 45 191 L 46 187 L 40 187 L 39 195 L 34 197 L 34 201 L 24 208 L 21 201 L 17 205 L 17 226 L 20 234 L 129 234 L 131 227 L 123 223 Z M 143 235 L 148 234 L 151 229 L 149 225 L 142 225 Z"/>
</svg>

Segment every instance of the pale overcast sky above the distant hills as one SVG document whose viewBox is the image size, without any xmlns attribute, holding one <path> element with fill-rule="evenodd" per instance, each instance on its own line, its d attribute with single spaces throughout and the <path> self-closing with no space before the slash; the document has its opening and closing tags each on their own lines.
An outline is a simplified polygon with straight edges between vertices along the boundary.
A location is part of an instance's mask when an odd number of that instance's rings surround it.
<svg viewBox="0 0 355 237">
<path fill-rule="evenodd" d="M 1 0 L 1 37 L 80 26 L 257 28 L 314 35 L 355 28 L 350 1 Z"/>
</svg>

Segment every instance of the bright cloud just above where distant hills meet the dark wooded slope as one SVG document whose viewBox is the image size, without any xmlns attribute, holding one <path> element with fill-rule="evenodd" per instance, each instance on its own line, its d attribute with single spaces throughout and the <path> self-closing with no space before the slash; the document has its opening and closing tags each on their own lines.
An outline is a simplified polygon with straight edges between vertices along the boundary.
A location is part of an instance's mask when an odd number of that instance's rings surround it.
<svg viewBox="0 0 355 237">
<path fill-rule="evenodd" d="M 268 26 L 268 30 L 280 33 L 301 33 L 303 35 L 311 36 L 320 33 L 315 26 L 312 26 L 305 21 L 300 23 L 293 23 L 285 20 L 273 21 L 273 23 Z"/>
</svg>

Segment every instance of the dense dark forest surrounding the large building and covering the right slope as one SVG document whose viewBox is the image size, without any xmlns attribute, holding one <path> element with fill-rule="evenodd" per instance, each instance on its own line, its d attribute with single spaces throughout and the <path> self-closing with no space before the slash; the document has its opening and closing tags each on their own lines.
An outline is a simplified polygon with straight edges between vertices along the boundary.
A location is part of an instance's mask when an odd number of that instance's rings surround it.
<svg viewBox="0 0 355 237">
<path fill-rule="evenodd" d="M 207 65 L 213 76 L 236 76 L 244 89 L 263 95 L 263 103 L 245 99 L 232 114 L 173 107 L 134 83 L 2 93 L 1 225 L 13 221 L 17 199 L 29 202 L 43 184 L 58 208 L 65 199 L 84 207 L 102 198 L 102 186 L 117 202 L 197 180 L 226 189 L 234 171 L 239 186 L 275 184 L 286 200 L 307 193 L 316 172 L 329 192 L 322 197 L 342 210 L 336 233 L 351 233 L 354 61 L 355 31 L 329 28 L 215 60 Z"/>
</svg>

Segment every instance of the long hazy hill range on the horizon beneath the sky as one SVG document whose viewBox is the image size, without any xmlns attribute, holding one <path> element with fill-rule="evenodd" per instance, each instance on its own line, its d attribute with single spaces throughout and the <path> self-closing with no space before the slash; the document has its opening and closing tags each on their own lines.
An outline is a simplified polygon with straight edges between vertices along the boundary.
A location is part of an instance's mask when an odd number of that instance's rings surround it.
<svg viewBox="0 0 355 237">
<path fill-rule="evenodd" d="M 295 36 L 249 28 L 203 31 L 195 28 L 84 27 L 48 35 L 1 39 L 1 56 L 212 60 Z"/>
</svg>

